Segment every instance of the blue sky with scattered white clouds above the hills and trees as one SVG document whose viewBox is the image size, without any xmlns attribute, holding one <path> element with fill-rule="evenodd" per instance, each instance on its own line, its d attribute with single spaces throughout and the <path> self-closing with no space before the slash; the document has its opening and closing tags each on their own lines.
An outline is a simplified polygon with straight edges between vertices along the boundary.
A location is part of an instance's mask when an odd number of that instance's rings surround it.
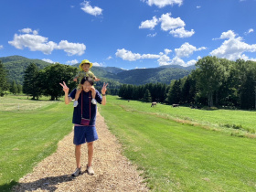
<svg viewBox="0 0 256 192">
<path fill-rule="evenodd" d="M 123 69 L 256 61 L 256 0 L 3 0 L 0 57 Z"/>
</svg>

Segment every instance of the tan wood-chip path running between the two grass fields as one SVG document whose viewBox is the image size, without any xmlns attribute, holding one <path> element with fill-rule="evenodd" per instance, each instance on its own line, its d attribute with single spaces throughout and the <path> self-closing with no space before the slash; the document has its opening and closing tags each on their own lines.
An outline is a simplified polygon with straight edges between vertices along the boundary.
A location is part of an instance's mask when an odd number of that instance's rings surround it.
<svg viewBox="0 0 256 192">
<path fill-rule="evenodd" d="M 122 155 L 122 146 L 97 113 L 99 140 L 94 142 L 94 176 L 85 173 L 87 146 L 81 147 L 82 175 L 70 176 L 76 168 L 73 132 L 59 142 L 56 153 L 48 156 L 19 180 L 15 191 L 148 191 L 141 173 Z"/>
</svg>

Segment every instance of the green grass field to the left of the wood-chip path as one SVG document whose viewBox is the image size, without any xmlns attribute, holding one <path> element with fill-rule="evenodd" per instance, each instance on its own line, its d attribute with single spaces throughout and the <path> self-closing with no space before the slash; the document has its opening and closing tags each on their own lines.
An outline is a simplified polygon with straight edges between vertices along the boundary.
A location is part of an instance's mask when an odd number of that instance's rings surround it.
<svg viewBox="0 0 256 192">
<path fill-rule="evenodd" d="M 57 149 L 72 129 L 72 106 L 64 101 L 0 98 L 0 191 L 9 191 L 18 179 Z"/>
</svg>

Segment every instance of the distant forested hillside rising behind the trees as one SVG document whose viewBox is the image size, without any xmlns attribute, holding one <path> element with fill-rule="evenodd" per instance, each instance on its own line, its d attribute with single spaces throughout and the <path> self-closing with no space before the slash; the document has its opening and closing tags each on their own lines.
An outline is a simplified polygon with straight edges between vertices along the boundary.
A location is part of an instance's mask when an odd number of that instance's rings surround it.
<svg viewBox="0 0 256 192">
<path fill-rule="evenodd" d="M 8 80 L 16 80 L 18 84 L 23 83 L 24 71 L 30 63 L 35 63 L 39 69 L 52 65 L 40 59 L 27 59 L 21 56 L 3 57 L 0 60 L 8 70 Z M 79 67 L 79 63 L 73 65 Z M 169 84 L 171 80 L 178 80 L 187 76 L 191 69 L 182 66 L 163 66 L 150 69 L 125 70 L 115 67 L 92 67 L 91 71 L 101 80 L 116 81 L 119 83 L 142 85 L 150 82 L 162 82 Z"/>
</svg>

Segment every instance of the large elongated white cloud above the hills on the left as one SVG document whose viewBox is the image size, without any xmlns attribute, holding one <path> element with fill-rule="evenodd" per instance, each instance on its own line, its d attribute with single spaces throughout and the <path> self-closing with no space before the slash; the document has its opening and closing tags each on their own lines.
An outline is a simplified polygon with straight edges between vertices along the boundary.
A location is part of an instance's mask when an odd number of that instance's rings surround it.
<svg viewBox="0 0 256 192">
<path fill-rule="evenodd" d="M 35 30 L 30 28 L 19 31 L 25 34 L 15 34 L 14 39 L 8 41 L 10 45 L 18 49 L 29 48 L 31 51 L 41 51 L 46 55 L 51 54 L 54 49 L 63 49 L 69 56 L 82 55 L 86 49 L 84 44 L 69 43 L 67 40 L 61 40 L 59 44 L 48 41 L 48 37 L 39 36 Z"/>
</svg>

